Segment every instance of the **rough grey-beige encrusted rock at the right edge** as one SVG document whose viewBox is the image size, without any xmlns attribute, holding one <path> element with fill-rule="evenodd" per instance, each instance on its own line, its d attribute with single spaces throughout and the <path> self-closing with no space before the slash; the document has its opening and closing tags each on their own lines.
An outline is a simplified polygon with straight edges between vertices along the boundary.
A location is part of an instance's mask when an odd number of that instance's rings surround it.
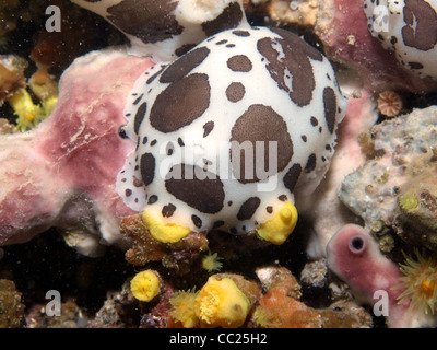
<svg viewBox="0 0 437 350">
<path fill-rule="evenodd" d="M 437 107 L 415 109 L 361 136 L 366 163 L 347 175 L 341 200 L 368 229 L 391 228 L 437 250 L 435 212 Z"/>
</svg>

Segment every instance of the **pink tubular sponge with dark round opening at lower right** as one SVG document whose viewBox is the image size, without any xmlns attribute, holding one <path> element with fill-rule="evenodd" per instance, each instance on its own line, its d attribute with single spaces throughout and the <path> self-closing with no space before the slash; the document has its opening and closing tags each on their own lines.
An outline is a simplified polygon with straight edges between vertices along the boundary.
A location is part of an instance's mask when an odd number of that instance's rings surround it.
<svg viewBox="0 0 437 350">
<path fill-rule="evenodd" d="M 375 304 L 380 299 L 375 292 L 387 292 L 389 327 L 417 327 L 428 322 L 423 313 L 409 310 L 410 302 L 398 303 L 403 290 L 393 287 L 399 285 L 402 273 L 380 253 L 378 244 L 365 229 L 345 225 L 330 240 L 327 253 L 330 269 L 363 303 Z"/>
</svg>

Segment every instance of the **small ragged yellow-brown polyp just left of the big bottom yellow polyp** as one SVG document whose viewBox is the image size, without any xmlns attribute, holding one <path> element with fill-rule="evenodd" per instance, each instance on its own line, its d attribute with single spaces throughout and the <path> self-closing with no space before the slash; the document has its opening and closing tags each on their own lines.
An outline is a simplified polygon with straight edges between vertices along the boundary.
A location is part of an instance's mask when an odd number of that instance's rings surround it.
<svg viewBox="0 0 437 350">
<path fill-rule="evenodd" d="M 199 292 L 179 291 L 179 293 L 169 299 L 172 311 L 169 314 L 177 322 L 180 322 L 184 328 L 194 328 L 199 325 L 199 319 L 196 316 L 196 296 Z"/>
</svg>

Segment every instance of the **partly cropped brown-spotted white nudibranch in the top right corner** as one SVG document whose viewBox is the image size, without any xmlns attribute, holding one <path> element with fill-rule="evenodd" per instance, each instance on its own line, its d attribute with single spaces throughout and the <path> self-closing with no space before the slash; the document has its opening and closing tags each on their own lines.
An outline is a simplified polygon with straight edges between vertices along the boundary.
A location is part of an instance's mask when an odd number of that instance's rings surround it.
<svg viewBox="0 0 437 350">
<path fill-rule="evenodd" d="M 437 80 L 437 0 L 364 0 L 368 27 L 405 68 Z"/>
</svg>

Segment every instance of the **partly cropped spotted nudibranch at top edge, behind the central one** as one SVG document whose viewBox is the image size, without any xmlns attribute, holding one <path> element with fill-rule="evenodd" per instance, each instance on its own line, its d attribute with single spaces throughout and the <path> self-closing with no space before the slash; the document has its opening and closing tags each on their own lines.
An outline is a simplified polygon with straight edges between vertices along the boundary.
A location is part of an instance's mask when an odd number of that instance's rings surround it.
<svg viewBox="0 0 437 350">
<path fill-rule="evenodd" d="M 71 0 L 103 16 L 130 40 L 131 52 L 174 60 L 204 38 L 247 27 L 240 0 Z"/>
</svg>

